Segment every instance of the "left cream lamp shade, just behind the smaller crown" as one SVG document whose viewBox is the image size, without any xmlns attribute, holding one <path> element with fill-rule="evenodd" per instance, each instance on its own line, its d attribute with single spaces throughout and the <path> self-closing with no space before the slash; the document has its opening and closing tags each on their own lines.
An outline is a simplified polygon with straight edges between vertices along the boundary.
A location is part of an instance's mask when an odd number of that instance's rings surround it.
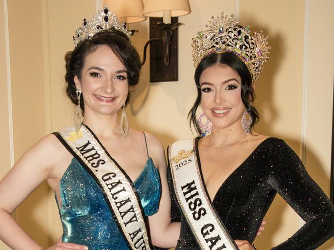
<svg viewBox="0 0 334 250">
<path fill-rule="evenodd" d="M 146 19 L 143 16 L 142 0 L 104 0 L 103 6 L 107 6 L 122 22 L 128 24 Z"/>
</svg>

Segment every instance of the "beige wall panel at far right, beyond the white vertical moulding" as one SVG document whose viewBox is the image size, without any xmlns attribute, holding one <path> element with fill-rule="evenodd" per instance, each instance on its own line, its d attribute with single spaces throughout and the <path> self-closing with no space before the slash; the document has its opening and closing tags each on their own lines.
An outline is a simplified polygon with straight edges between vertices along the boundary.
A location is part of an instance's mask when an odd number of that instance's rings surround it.
<svg viewBox="0 0 334 250">
<path fill-rule="evenodd" d="M 324 24 L 334 25 L 334 2 L 309 3 L 305 164 L 308 173 L 329 196 L 334 48 L 327 45 L 334 44 L 334 32 L 328 32 Z M 334 249 L 333 238 L 318 249 Z"/>
</svg>

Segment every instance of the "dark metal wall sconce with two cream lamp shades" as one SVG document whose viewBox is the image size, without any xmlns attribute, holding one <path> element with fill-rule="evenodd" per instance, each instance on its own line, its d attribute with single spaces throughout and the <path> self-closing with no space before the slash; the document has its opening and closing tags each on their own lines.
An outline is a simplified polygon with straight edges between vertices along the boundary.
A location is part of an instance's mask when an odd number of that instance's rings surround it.
<svg viewBox="0 0 334 250">
<path fill-rule="evenodd" d="M 178 80 L 178 16 L 190 11 L 188 0 L 104 0 L 121 22 L 141 22 L 150 17 L 150 40 L 144 46 L 142 65 L 146 60 L 146 49 L 150 45 L 150 82 Z M 134 32 L 134 31 L 133 31 Z"/>
</svg>

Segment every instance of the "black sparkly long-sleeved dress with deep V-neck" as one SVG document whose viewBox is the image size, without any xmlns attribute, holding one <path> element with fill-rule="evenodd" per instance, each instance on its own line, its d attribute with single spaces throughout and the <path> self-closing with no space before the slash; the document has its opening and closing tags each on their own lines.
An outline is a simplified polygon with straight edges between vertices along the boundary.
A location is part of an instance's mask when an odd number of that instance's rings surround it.
<svg viewBox="0 0 334 250">
<path fill-rule="evenodd" d="M 196 138 L 197 156 L 198 141 L 199 138 Z M 197 160 L 200 169 L 200 159 Z M 200 249 L 187 220 L 180 215 L 170 169 L 168 180 L 172 198 L 172 221 L 181 221 L 176 249 Z M 307 174 L 299 157 L 283 140 L 277 138 L 268 138 L 258 145 L 221 184 L 212 205 L 233 239 L 252 243 L 276 193 L 306 223 L 291 238 L 272 249 L 316 249 L 334 235 L 333 204 Z"/>
</svg>

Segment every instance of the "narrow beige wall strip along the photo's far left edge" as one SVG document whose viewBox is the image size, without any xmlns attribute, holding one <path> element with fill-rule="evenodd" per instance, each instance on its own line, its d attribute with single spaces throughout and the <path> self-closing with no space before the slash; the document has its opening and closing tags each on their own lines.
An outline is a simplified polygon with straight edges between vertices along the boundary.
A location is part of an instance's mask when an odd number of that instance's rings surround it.
<svg viewBox="0 0 334 250">
<path fill-rule="evenodd" d="M 4 1 L 0 1 L 0 158 L 2 159 L 2 166 L 0 168 L 0 180 L 10 170 L 10 134 L 9 134 L 9 112 L 8 112 L 8 88 L 7 88 L 7 64 L 6 64 L 6 33 L 4 12 Z M 7 11 L 7 10 L 6 10 Z M 0 249 L 10 249 L 8 246 L 0 240 Z"/>
</svg>

